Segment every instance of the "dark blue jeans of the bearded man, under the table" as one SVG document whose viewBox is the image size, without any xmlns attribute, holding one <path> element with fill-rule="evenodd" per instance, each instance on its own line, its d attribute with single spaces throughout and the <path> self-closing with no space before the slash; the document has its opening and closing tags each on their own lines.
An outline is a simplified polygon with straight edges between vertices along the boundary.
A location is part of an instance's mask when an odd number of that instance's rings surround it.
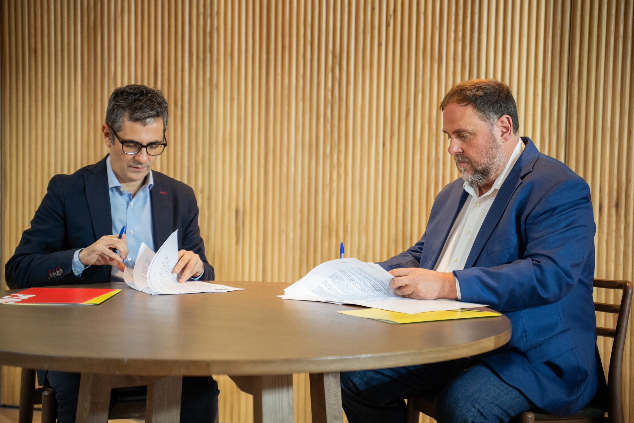
<svg viewBox="0 0 634 423">
<path fill-rule="evenodd" d="M 470 358 L 341 374 L 350 423 L 405 422 L 404 399 L 423 393 L 436 395 L 438 423 L 507 422 L 534 407 L 491 368 Z"/>
</svg>

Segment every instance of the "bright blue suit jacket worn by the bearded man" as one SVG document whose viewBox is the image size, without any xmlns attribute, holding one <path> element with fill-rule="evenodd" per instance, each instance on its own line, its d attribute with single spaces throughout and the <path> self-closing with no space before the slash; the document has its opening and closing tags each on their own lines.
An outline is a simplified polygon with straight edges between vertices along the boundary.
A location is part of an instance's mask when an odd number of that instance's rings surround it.
<svg viewBox="0 0 634 423">
<path fill-rule="evenodd" d="M 479 359 L 538 407 L 569 415 L 605 387 L 592 299 L 590 188 L 529 138 L 522 141 L 526 148 L 484 219 L 465 269 L 453 273 L 463 301 L 490 304 L 513 325 L 510 341 Z M 380 264 L 433 269 L 467 195 L 462 179 L 445 186 L 420 241 Z"/>
</svg>

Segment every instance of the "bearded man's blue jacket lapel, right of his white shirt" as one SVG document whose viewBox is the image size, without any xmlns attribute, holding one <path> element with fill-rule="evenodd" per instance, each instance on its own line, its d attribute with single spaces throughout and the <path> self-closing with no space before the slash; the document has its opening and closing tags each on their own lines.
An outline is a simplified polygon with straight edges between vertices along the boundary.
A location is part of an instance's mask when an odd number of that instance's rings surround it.
<svg viewBox="0 0 634 423">
<path fill-rule="evenodd" d="M 522 185 L 524 176 L 533 170 L 533 165 L 540 152 L 538 152 L 530 138 L 522 137 L 522 141 L 524 140 L 526 140 L 526 147 L 519 156 L 519 159 L 517 159 L 517 162 L 515 162 L 513 169 L 507 176 L 507 179 L 505 179 L 504 183 L 500 187 L 498 195 L 496 195 L 495 200 L 493 200 L 491 209 L 489 209 L 489 212 L 486 214 L 486 218 L 484 218 L 482 226 L 477 233 L 477 237 L 475 237 L 474 245 L 471 247 L 469 257 L 467 257 L 465 269 L 473 267 L 475 260 L 480 256 L 482 249 L 484 249 L 484 245 L 488 242 L 489 237 L 491 237 L 491 233 L 493 233 L 493 230 L 495 230 L 495 227 L 498 225 L 502 214 L 504 214 L 504 211 L 507 209 L 508 202 L 510 202 L 511 197 L 513 197 L 517 188 Z"/>
</svg>

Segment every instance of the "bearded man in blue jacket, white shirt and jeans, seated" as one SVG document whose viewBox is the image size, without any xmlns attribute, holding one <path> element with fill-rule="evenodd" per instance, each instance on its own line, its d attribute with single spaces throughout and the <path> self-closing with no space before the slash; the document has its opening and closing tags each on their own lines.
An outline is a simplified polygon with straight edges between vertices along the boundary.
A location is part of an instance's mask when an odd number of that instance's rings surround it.
<svg viewBox="0 0 634 423">
<path fill-rule="evenodd" d="M 489 304 L 512 337 L 479 356 L 342 373 L 347 418 L 405 422 L 404 398 L 424 393 L 439 423 L 506 422 L 534 407 L 571 415 L 605 389 L 590 188 L 519 136 L 507 85 L 461 82 L 440 108 L 461 178 L 436 197 L 423 237 L 379 264 L 399 296 Z"/>
</svg>

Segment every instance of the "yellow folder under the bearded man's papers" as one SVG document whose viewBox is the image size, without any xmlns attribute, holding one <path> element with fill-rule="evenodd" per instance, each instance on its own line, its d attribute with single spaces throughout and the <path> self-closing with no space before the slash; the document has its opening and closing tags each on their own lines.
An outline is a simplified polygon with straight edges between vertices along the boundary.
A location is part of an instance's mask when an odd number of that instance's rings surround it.
<svg viewBox="0 0 634 423">
<path fill-rule="evenodd" d="M 501 313 L 495 311 L 481 310 L 446 310 L 446 311 L 427 311 L 425 313 L 398 313 L 396 311 L 387 311 L 378 308 L 365 308 L 360 310 L 337 311 L 343 315 L 365 317 L 368 319 L 380 320 L 388 323 L 415 323 L 415 322 L 433 322 L 434 320 L 453 320 L 453 319 L 470 319 L 475 317 L 500 316 Z"/>
</svg>

